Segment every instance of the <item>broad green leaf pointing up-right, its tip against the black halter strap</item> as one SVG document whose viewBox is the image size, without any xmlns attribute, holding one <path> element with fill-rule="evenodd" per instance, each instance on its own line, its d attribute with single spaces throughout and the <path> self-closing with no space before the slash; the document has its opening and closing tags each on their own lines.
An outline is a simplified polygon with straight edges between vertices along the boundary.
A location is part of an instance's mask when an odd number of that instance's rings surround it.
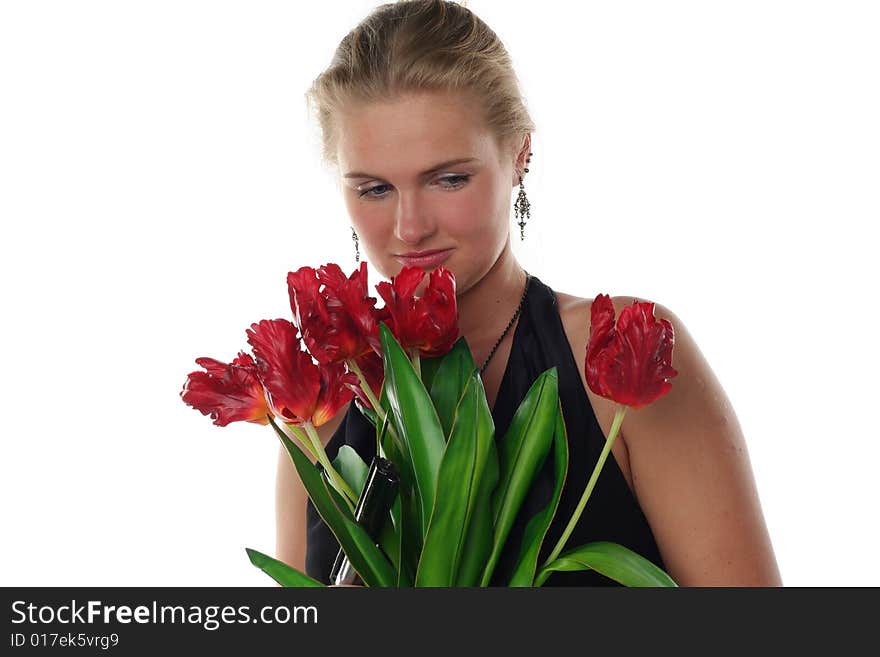
<svg viewBox="0 0 880 657">
<path fill-rule="evenodd" d="M 559 378 L 556 368 L 551 367 L 529 388 L 500 444 L 500 481 L 492 496 L 495 531 L 481 586 L 489 585 L 517 513 L 544 465 L 555 433 L 558 406 Z"/>
</svg>

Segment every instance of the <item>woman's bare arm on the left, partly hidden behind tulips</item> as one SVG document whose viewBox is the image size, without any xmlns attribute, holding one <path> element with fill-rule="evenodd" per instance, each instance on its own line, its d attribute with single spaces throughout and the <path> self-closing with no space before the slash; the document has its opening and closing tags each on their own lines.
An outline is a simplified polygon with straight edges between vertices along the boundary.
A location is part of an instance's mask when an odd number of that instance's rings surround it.
<svg viewBox="0 0 880 657">
<path fill-rule="evenodd" d="M 341 424 L 348 406 L 331 420 L 317 427 L 321 442 L 326 447 Z M 294 442 L 302 445 L 294 439 Z M 275 553 L 279 561 L 306 572 L 306 500 L 308 494 L 284 445 L 278 446 L 278 466 L 275 476 Z M 314 463 L 315 459 L 303 449 Z"/>
</svg>

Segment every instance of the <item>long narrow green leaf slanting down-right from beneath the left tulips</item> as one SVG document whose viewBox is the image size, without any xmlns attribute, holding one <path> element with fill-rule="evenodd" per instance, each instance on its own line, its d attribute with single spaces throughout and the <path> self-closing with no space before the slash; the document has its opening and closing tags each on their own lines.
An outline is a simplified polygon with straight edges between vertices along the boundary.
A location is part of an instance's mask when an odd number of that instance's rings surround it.
<svg viewBox="0 0 880 657">
<path fill-rule="evenodd" d="M 376 547 L 366 530 L 355 522 L 343 498 L 328 485 L 319 468 L 287 437 L 278 425 L 274 421 L 270 421 L 270 423 L 287 449 L 300 481 L 315 505 L 315 509 L 327 523 L 330 531 L 333 532 L 364 584 L 367 586 L 394 586 L 396 581 L 394 569 L 382 551 Z"/>
</svg>

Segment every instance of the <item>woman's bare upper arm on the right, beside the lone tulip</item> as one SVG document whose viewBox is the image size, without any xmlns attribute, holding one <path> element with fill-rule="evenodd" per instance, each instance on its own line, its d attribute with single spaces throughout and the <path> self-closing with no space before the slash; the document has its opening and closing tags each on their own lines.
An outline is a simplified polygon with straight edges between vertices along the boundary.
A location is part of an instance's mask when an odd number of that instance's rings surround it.
<svg viewBox="0 0 880 657">
<path fill-rule="evenodd" d="M 619 315 L 632 297 L 616 297 Z M 621 431 L 633 485 L 667 572 L 680 586 L 782 586 L 745 438 L 730 401 L 687 328 L 675 331 L 672 390 Z"/>
</svg>

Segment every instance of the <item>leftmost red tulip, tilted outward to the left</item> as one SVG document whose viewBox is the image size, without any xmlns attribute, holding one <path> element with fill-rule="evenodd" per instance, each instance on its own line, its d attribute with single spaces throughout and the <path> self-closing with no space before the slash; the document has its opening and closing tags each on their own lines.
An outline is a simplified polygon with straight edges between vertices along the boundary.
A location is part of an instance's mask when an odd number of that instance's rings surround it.
<svg viewBox="0 0 880 657">
<path fill-rule="evenodd" d="M 213 358 L 196 358 L 196 363 L 206 371 L 187 375 L 180 393 L 184 403 L 210 415 L 218 427 L 241 420 L 269 424 L 269 406 L 250 354 L 239 352 L 229 364 Z"/>
</svg>

